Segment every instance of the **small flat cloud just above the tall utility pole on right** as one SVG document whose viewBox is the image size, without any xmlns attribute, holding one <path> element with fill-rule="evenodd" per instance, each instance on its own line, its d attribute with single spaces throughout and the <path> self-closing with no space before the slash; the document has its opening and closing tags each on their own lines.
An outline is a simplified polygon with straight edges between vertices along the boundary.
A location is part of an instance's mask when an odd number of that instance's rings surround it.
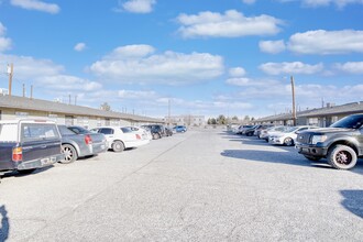
<svg viewBox="0 0 363 242">
<path fill-rule="evenodd" d="M 293 75 L 293 74 L 317 74 L 322 72 L 323 65 L 321 63 L 317 65 L 304 64 L 301 62 L 294 63 L 265 63 L 260 66 L 264 73 L 268 75 Z"/>
</svg>

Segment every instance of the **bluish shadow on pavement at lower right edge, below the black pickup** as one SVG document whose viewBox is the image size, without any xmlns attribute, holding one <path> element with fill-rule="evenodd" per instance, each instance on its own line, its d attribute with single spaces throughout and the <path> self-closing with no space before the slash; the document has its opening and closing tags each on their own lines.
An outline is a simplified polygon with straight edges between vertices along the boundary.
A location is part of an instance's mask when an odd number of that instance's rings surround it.
<svg viewBox="0 0 363 242">
<path fill-rule="evenodd" d="M 363 190 L 341 190 L 340 193 L 344 197 L 342 206 L 363 219 Z"/>
</svg>

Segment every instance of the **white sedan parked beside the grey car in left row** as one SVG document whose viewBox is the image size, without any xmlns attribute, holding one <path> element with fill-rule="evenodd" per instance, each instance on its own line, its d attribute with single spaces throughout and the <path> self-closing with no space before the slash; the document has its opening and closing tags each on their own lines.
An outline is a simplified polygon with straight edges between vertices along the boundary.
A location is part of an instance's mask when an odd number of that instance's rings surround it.
<svg viewBox="0 0 363 242">
<path fill-rule="evenodd" d="M 130 147 L 139 147 L 150 142 L 150 140 L 143 139 L 141 134 L 124 127 L 99 127 L 91 131 L 103 133 L 109 148 L 112 148 L 114 152 L 122 152 Z"/>
</svg>

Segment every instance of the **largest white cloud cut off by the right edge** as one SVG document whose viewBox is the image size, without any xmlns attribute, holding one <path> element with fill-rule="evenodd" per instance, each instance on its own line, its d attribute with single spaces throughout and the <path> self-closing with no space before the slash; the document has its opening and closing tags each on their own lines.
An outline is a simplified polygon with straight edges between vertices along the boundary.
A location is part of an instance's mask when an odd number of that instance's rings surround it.
<svg viewBox="0 0 363 242">
<path fill-rule="evenodd" d="M 308 31 L 290 36 L 287 48 L 299 54 L 363 53 L 363 31 Z"/>
</svg>

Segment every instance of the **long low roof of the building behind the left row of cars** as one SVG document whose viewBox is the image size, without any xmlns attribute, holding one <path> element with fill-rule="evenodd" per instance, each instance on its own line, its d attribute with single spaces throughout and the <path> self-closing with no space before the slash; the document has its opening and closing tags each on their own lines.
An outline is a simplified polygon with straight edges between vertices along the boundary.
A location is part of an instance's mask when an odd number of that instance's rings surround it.
<svg viewBox="0 0 363 242">
<path fill-rule="evenodd" d="M 0 96 L 0 108 L 45 111 L 54 113 L 64 113 L 69 116 L 102 117 L 109 119 L 122 119 L 134 122 L 163 122 L 160 119 L 150 117 L 105 111 L 82 106 L 66 105 L 61 102 L 46 101 L 41 99 L 30 99 L 16 96 Z"/>
</svg>

